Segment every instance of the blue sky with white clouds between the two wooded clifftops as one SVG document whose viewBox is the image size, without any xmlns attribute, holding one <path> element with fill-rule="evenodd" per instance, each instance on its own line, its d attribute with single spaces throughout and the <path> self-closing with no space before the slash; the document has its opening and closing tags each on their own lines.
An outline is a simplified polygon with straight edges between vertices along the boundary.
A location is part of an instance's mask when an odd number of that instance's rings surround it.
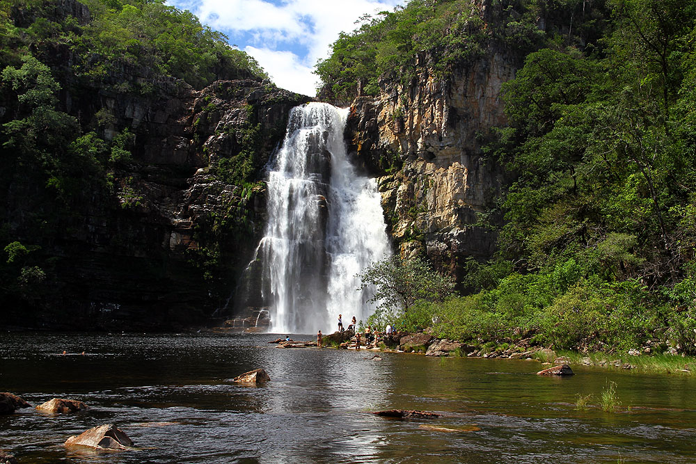
<svg viewBox="0 0 696 464">
<path fill-rule="evenodd" d="M 228 36 L 253 56 L 278 87 L 313 96 L 317 59 L 329 56 L 340 31 L 365 13 L 391 11 L 404 0 L 169 0 Z"/>
</svg>

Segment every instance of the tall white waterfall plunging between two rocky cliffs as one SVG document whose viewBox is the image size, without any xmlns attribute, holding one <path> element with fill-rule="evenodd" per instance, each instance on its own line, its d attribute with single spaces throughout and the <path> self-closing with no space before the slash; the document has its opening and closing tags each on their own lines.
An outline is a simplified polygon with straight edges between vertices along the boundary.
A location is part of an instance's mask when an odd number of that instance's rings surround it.
<svg viewBox="0 0 696 464">
<path fill-rule="evenodd" d="M 355 275 L 389 244 L 377 183 L 347 157 L 347 115 L 324 103 L 292 109 L 269 169 L 268 223 L 255 259 L 274 332 L 330 333 L 338 314 L 347 326 L 373 310 Z"/>
</svg>

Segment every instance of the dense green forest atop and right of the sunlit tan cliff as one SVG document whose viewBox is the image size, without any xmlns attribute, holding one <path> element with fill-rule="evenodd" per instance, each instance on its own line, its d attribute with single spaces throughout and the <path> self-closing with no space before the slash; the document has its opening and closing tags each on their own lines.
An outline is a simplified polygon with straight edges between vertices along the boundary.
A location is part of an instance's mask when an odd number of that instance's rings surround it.
<svg viewBox="0 0 696 464">
<path fill-rule="evenodd" d="M 484 145 L 514 173 L 489 224 L 498 252 L 466 263 L 465 296 L 409 307 L 405 328 L 696 354 L 695 26 L 680 0 L 413 0 L 340 35 L 317 64 L 335 99 L 424 65 L 446 79 L 487 47 L 524 56 L 509 124 Z"/>
</svg>

